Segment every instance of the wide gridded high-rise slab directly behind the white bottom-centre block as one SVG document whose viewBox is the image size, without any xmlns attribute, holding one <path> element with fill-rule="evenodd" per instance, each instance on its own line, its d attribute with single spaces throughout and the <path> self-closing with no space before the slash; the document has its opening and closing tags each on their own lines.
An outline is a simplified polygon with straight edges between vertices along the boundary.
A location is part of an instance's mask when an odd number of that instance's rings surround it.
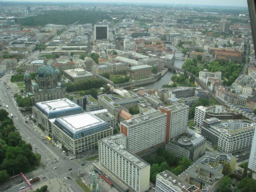
<svg viewBox="0 0 256 192">
<path fill-rule="evenodd" d="M 127 149 L 137 155 L 157 150 L 165 144 L 167 115 L 160 111 L 120 123 L 120 132 L 127 136 Z"/>
</svg>

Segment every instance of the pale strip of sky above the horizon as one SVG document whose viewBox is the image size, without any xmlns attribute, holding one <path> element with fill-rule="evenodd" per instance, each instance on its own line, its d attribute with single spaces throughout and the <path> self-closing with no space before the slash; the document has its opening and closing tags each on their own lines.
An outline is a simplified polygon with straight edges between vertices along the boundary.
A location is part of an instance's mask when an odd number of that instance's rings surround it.
<svg viewBox="0 0 256 192">
<path fill-rule="evenodd" d="M 219 5 L 247 7 L 247 0 L 3 0 L 3 1 L 27 1 L 27 2 L 105 2 L 105 3 L 177 3 L 193 5 Z"/>
</svg>

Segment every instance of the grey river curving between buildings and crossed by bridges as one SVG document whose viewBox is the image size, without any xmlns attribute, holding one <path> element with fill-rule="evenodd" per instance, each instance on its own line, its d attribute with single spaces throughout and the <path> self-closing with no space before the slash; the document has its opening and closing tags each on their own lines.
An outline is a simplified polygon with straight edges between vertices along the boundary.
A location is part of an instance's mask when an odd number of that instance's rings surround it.
<svg viewBox="0 0 256 192">
<path fill-rule="evenodd" d="M 170 47 L 173 50 L 177 50 L 178 48 L 173 45 L 173 44 L 166 44 L 167 47 Z M 178 57 L 183 57 L 183 54 L 181 52 L 176 52 L 175 53 L 176 56 Z M 184 60 L 180 60 L 180 59 L 175 59 L 174 61 L 174 66 L 181 68 L 182 64 L 184 63 Z M 162 87 L 163 84 L 168 84 L 171 80 L 171 77 L 174 75 L 174 73 L 168 71 L 165 76 L 163 76 L 162 78 L 160 78 L 159 80 L 157 80 L 154 83 L 150 83 L 150 84 L 145 84 L 142 85 L 143 87 L 145 87 L 146 89 L 159 89 Z"/>
</svg>

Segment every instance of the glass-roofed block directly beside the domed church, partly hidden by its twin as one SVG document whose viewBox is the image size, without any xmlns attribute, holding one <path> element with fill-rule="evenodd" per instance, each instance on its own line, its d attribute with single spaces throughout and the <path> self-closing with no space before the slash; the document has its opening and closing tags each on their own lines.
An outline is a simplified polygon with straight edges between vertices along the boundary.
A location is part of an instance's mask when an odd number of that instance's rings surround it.
<svg viewBox="0 0 256 192">
<path fill-rule="evenodd" d="M 32 112 L 37 123 L 41 124 L 48 133 L 51 133 L 50 119 L 83 113 L 84 110 L 69 99 L 63 98 L 35 103 Z"/>
</svg>

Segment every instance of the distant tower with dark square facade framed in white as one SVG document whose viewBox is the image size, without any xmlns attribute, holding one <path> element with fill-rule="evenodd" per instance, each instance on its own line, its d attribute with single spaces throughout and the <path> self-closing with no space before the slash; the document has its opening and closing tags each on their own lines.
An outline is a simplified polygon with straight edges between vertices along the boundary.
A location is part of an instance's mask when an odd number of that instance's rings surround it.
<svg viewBox="0 0 256 192">
<path fill-rule="evenodd" d="M 98 22 L 94 25 L 94 39 L 102 40 L 109 39 L 109 25 L 110 22 L 104 19 L 103 22 Z"/>
</svg>

